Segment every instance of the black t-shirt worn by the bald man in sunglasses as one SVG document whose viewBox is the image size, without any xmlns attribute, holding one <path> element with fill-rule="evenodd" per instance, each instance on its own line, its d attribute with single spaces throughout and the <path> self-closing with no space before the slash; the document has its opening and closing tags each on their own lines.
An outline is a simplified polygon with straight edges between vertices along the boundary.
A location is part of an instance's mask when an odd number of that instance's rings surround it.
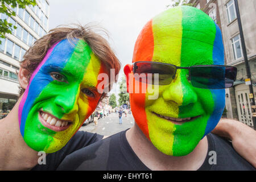
<svg viewBox="0 0 256 182">
<path fill-rule="evenodd" d="M 126 131 L 93 143 L 71 155 L 66 156 L 57 170 L 92 170 L 92 171 L 148 171 L 130 147 Z M 207 156 L 199 170 L 255 170 L 250 163 L 234 151 L 232 143 L 208 134 L 208 154 L 215 151 L 217 159 Z M 210 160 L 210 163 L 209 163 Z M 214 164 L 216 163 L 216 164 Z"/>
</svg>

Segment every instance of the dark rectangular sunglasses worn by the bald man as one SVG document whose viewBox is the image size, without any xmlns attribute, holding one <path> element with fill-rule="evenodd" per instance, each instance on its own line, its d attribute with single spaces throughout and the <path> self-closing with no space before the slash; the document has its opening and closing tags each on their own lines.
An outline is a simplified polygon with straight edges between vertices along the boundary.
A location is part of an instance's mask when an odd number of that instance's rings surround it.
<svg viewBox="0 0 256 182">
<path fill-rule="evenodd" d="M 135 80 L 151 85 L 169 85 L 174 80 L 177 69 L 188 69 L 188 81 L 191 82 L 192 86 L 203 89 L 230 88 L 237 76 L 236 67 L 225 65 L 177 67 L 172 64 L 152 61 L 138 61 L 133 64 Z M 158 81 L 155 81 L 157 76 Z"/>
</svg>

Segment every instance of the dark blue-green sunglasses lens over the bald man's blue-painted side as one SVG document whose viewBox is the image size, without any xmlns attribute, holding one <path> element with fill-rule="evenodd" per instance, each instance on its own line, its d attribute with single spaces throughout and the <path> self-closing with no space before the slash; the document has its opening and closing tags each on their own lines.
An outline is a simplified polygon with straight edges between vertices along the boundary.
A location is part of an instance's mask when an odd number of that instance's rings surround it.
<svg viewBox="0 0 256 182">
<path fill-rule="evenodd" d="M 191 84 L 196 88 L 225 89 L 233 86 L 236 68 L 225 66 L 191 67 Z"/>
</svg>

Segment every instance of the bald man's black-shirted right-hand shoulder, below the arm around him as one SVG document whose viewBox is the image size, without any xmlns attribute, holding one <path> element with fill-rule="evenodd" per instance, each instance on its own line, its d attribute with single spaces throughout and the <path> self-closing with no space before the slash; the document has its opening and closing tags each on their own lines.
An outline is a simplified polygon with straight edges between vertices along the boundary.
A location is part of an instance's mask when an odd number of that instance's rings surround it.
<svg viewBox="0 0 256 182">
<path fill-rule="evenodd" d="M 242 158 L 233 148 L 232 142 L 218 137 L 212 133 L 207 135 L 209 151 L 208 155 L 216 155 L 213 170 L 255 170 L 253 166 Z M 210 158 L 208 159 L 210 163 Z"/>
</svg>

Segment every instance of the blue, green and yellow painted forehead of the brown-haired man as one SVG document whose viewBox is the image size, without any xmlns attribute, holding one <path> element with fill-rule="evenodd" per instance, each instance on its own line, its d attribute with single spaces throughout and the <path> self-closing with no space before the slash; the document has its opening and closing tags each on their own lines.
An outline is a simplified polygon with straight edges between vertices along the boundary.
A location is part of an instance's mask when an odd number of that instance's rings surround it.
<svg viewBox="0 0 256 182">
<path fill-rule="evenodd" d="M 42 69 L 58 71 L 68 74 L 78 80 L 83 80 L 85 74 L 98 75 L 100 68 L 96 69 L 92 65 L 100 67 L 100 60 L 94 55 L 90 47 L 84 40 L 76 39 L 69 42 L 67 39 L 55 44 L 49 50 L 49 56 L 45 57 Z"/>
</svg>

